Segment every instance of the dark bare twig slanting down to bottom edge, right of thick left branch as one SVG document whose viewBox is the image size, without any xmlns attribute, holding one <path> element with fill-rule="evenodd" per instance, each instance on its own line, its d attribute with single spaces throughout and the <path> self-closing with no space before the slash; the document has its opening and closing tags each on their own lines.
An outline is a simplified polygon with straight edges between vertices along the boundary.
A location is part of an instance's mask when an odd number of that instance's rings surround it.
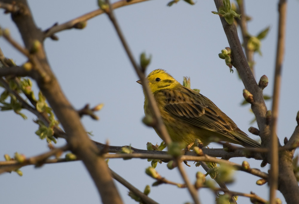
<svg viewBox="0 0 299 204">
<path fill-rule="evenodd" d="M 141 191 L 139 191 L 138 188 L 135 188 L 135 186 L 133 186 L 128 181 L 126 181 L 123 177 L 121 177 L 120 175 L 118 175 L 117 173 L 115 173 L 112 169 L 110 169 L 110 171 L 111 171 L 112 177 L 115 180 L 117 180 L 118 182 L 120 182 L 123 186 L 125 186 L 126 188 L 128 188 L 135 195 L 137 195 L 141 199 L 141 201 L 143 203 L 146 203 L 146 204 L 158 204 L 157 202 L 155 202 L 154 200 L 152 200 L 150 197 L 146 196 L 144 193 L 142 193 Z"/>
</svg>

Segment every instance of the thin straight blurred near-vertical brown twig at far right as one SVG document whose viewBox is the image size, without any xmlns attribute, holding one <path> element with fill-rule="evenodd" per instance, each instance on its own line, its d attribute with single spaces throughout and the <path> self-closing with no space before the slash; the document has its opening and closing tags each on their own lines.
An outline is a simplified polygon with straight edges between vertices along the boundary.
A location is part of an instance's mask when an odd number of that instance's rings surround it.
<svg viewBox="0 0 299 204">
<path fill-rule="evenodd" d="M 286 36 L 286 0 L 280 0 L 278 3 L 278 35 L 277 35 L 277 50 L 276 50 L 276 63 L 275 63 L 275 76 L 273 88 L 273 104 L 272 104 L 272 119 L 270 124 L 270 199 L 269 203 L 275 203 L 276 190 L 278 188 L 278 139 L 276 135 L 278 106 L 281 85 L 281 70 L 284 58 L 285 36 Z"/>
</svg>

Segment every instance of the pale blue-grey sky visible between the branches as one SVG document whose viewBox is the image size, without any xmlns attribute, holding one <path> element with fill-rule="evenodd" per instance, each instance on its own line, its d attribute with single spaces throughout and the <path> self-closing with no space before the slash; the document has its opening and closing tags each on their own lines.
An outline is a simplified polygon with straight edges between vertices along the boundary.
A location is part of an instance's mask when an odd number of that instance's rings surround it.
<svg viewBox="0 0 299 204">
<path fill-rule="evenodd" d="M 96 1 L 28 1 L 38 27 L 45 30 L 54 23 L 64 23 L 91 10 L 97 9 Z M 114 2 L 114 1 L 113 1 Z M 249 105 L 240 106 L 244 85 L 237 72 L 229 72 L 224 60 L 218 57 L 224 47 L 228 46 L 222 24 L 217 15 L 212 14 L 216 7 L 213 1 L 196 1 L 190 6 L 183 1 L 167 7 L 168 1 L 147 1 L 115 10 L 121 29 L 135 56 L 139 59 L 141 52 L 152 55 L 147 69 L 162 68 L 175 79 L 182 82 L 183 76 L 190 76 L 191 88 L 198 88 L 211 99 L 223 112 L 233 119 L 238 127 L 248 133 L 249 122 L 253 115 Z M 266 74 L 269 85 L 264 93 L 272 95 L 274 80 L 274 62 L 277 39 L 277 1 L 246 1 L 246 11 L 252 17 L 248 30 L 256 35 L 265 27 L 271 30 L 262 41 L 262 56 L 255 55 L 256 79 Z M 298 24 L 296 11 L 298 1 L 288 2 L 286 56 L 283 65 L 280 112 L 277 134 L 281 142 L 290 137 L 297 125 L 295 117 L 299 110 L 297 87 L 299 69 L 298 58 Z M 9 15 L 0 14 L 0 25 L 9 28 L 11 35 L 21 42 L 19 33 Z M 132 145 L 146 149 L 146 143 L 160 143 L 161 139 L 152 128 L 142 124 L 144 116 L 144 96 L 138 80 L 120 40 L 106 15 L 100 15 L 88 21 L 83 30 L 65 30 L 57 33 L 59 41 L 45 40 L 48 60 L 60 85 L 74 105 L 82 108 L 86 103 L 91 106 L 104 103 L 97 113 L 99 121 L 87 117 L 82 119 L 86 131 L 92 131 L 93 140 L 111 145 Z M 296 43 L 297 42 L 297 43 Z M 25 58 L 0 38 L 0 47 L 8 58 L 13 58 L 21 65 Z M 34 90 L 37 90 L 34 83 Z M 1 91 L 1 90 L 0 90 Z M 271 109 L 271 102 L 267 102 Z M 47 144 L 34 132 L 37 130 L 32 119 L 36 117 L 23 111 L 28 120 L 23 120 L 13 112 L 1 112 L 0 155 L 18 151 L 26 156 L 34 156 L 47 151 Z M 248 133 L 254 139 L 258 139 Z M 58 140 L 58 146 L 65 144 Z M 219 148 L 211 144 L 210 148 Z M 259 168 L 260 162 L 246 159 L 251 167 Z M 231 159 L 241 163 L 243 159 Z M 137 188 L 144 189 L 152 184 L 153 179 L 144 171 L 150 162 L 142 159 L 110 159 L 109 166 Z M 269 165 L 262 169 L 267 172 Z M 196 171 L 204 170 L 194 165 L 185 168 L 192 181 Z M 88 172 L 81 162 L 45 165 L 42 168 L 28 166 L 22 168 L 23 176 L 2 174 L 0 196 L 2 203 L 99 203 L 99 196 Z M 170 180 L 182 182 L 178 171 L 168 170 L 166 164 L 158 164 L 157 171 Z M 254 191 L 268 199 L 268 188 L 255 185 L 257 177 L 236 172 L 236 182 L 228 188 L 249 193 Z M 4 185 L 5 184 L 5 185 Z M 127 189 L 118 185 L 125 203 L 135 203 L 127 194 Z M 278 197 L 282 197 L 280 193 Z M 191 201 L 186 189 L 175 186 L 160 185 L 152 187 L 149 194 L 158 203 L 184 203 Z M 210 191 L 199 191 L 202 203 L 214 201 Z M 238 203 L 250 203 L 247 198 L 239 197 Z"/>
</svg>

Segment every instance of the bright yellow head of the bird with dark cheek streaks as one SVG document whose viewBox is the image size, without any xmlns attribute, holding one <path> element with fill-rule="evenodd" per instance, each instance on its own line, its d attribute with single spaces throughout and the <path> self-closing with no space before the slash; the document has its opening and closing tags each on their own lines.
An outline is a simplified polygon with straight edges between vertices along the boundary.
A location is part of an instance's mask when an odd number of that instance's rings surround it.
<svg viewBox="0 0 299 204">
<path fill-rule="evenodd" d="M 163 69 L 153 70 L 147 76 L 147 80 L 149 81 L 149 89 L 152 91 L 152 93 L 155 93 L 161 89 L 173 89 L 177 85 L 181 85 Z"/>
</svg>

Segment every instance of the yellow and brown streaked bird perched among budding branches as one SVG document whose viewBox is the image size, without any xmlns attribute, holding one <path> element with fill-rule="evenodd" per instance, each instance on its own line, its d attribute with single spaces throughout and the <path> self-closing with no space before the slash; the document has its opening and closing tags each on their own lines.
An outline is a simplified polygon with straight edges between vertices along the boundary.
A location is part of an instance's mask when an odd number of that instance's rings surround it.
<svg viewBox="0 0 299 204">
<path fill-rule="evenodd" d="M 244 147 L 260 147 L 260 143 L 241 131 L 210 99 L 182 86 L 165 70 L 153 70 L 147 79 L 163 122 L 174 142 L 187 146 L 198 138 L 207 146 L 216 139 Z M 141 83 L 140 80 L 137 82 Z M 144 113 L 146 116 L 153 115 L 146 96 Z"/>
</svg>

